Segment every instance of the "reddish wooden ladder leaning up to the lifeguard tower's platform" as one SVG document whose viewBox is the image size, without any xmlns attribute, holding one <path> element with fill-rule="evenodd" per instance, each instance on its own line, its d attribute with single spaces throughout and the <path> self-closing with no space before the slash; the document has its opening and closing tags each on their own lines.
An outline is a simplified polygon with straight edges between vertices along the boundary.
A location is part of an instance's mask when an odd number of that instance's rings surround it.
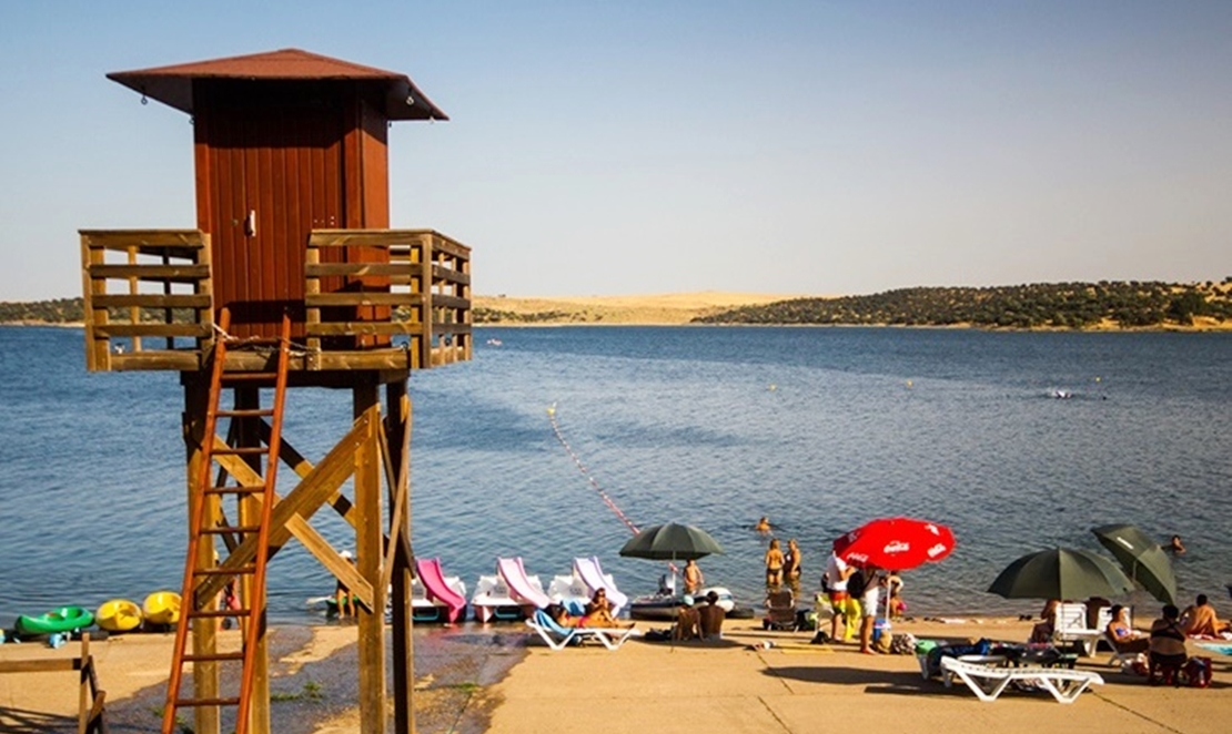
<svg viewBox="0 0 1232 734">
<path fill-rule="evenodd" d="M 181 613 L 175 631 L 171 676 L 168 681 L 166 703 L 163 708 L 163 734 L 174 734 L 177 727 L 176 712 L 180 708 L 206 706 L 237 707 L 234 732 L 235 734 L 246 734 L 249 729 L 249 712 L 251 711 L 254 670 L 261 634 L 264 634 L 265 628 L 265 568 L 269 562 L 270 516 L 274 507 L 278 448 L 282 437 L 282 410 L 287 392 L 291 318 L 283 315 L 280 336 L 250 339 L 227 335 L 227 329 L 230 326 L 230 312 L 228 309 L 222 309 L 218 320 L 222 334 L 214 340 L 209 395 L 206 408 L 205 441 L 201 447 L 200 458 L 201 470 L 193 485 L 192 506 L 190 507 L 188 557 L 184 569 L 184 590 L 180 602 Z M 225 369 L 228 350 L 241 349 L 277 349 L 276 371 L 228 373 Z M 260 388 L 271 383 L 274 385 L 274 405 L 271 408 L 262 409 L 260 406 L 237 405 L 232 410 L 219 409 L 224 388 L 240 385 Z M 270 421 L 270 431 L 266 445 L 230 446 L 228 442 L 227 446 L 221 446 L 224 442 L 216 438 L 219 417 L 229 419 L 230 421 L 267 419 Z M 232 430 L 229 435 L 234 437 L 238 432 Z M 228 484 L 227 478 L 229 473 L 221 463 L 221 459 L 230 459 L 224 457 L 237 457 L 245 462 L 260 462 L 261 457 L 264 457 L 264 483 L 244 484 L 237 480 Z M 212 480 L 216 464 L 218 468 L 217 480 Z M 207 512 L 207 507 L 217 507 L 224 496 L 234 496 L 237 502 L 243 502 L 246 498 L 260 496 L 259 520 L 237 520 L 234 523 L 230 523 L 227 522 L 222 512 Z M 243 515 L 238 515 L 237 517 L 243 517 Z M 234 563 L 218 563 L 217 539 L 224 542 L 229 555 L 245 539 L 253 537 L 256 538 L 256 552 L 250 563 L 239 565 Z M 206 543 L 207 547 L 203 548 L 202 543 Z M 211 548 L 213 553 L 209 553 Z M 217 586 L 219 576 L 228 576 L 232 580 L 248 578 L 248 594 L 238 594 L 240 600 L 238 605 L 230 606 L 224 603 L 221 605 L 222 608 L 218 608 L 219 605 L 217 603 L 216 594 L 201 594 L 203 585 Z M 190 650 L 190 628 L 195 621 L 203 618 L 213 619 L 216 623 L 225 618 L 234 618 L 241 629 L 241 649 L 239 651 L 218 651 L 214 649 L 208 653 Z M 184 666 L 188 663 L 216 663 L 221 666 L 228 664 L 241 665 L 238 691 L 225 696 L 218 693 L 212 697 L 200 697 L 196 695 L 181 697 L 180 688 L 184 680 Z M 223 670 L 225 667 L 219 667 L 219 671 Z M 235 680 L 232 676 L 219 677 L 228 682 Z M 234 684 L 230 687 L 235 687 Z"/>
</svg>

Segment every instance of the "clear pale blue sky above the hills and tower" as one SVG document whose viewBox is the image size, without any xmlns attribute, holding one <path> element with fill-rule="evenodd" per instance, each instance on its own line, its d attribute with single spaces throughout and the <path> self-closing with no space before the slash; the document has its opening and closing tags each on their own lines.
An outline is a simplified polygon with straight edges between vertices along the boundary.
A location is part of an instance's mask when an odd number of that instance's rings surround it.
<svg viewBox="0 0 1232 734">
<path fill-rule="evenodd" d="M 1232 2 L 0 0 L 0 300 L 80 228 L 195 225 L 188 117 L 108 71 L 302 48 L 409 75 L 393 225 L 476 293 L 1232 276 Z"/>
</svg>

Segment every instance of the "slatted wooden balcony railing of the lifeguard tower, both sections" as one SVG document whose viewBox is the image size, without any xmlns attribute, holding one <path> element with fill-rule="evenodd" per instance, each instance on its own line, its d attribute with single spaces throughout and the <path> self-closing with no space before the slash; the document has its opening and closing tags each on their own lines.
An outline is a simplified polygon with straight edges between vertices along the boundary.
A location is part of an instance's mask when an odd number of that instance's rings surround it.
<svg viewBox="0 0 1232 734">
<path fill-rule="evenodd" d="M 218 309 L 235 305 L 214 302 L 209 235 L 80 235 L 87 369 L 203 369 Z M 423 369 L 471 358 L 471 248 L 430 229 L 326 229 L 312 233 L 304 262 L 304 323 L 294 329 L 306 345 L 292 372 Z M 262 368 L 250 355 L 228 357 L 228 371 Z"/>
</svg>

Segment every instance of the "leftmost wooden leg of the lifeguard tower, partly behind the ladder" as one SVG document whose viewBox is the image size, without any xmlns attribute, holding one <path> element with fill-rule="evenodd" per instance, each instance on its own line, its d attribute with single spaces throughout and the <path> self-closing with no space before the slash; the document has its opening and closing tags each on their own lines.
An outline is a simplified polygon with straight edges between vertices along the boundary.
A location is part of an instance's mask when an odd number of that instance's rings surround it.
<svg viewBox="0 0 1232 734">
<path fill-rule="evenodd" d="M 206 410 L 209 404 L 209 382 L 203 372 L 182 373 L 184 383 L 184 442 L 188 458 L 188 517 L 192 517 L 192 505 L 200 501 L 208 501 L 206 512 L 212 521 L 218 520 L 218 500 L 211 498 L 206 500 L 198 493 L 197 480 L 201 477 L 201 463 L 205 461 L 203 448 L 206 441 L 213 441 L 213 436 L 206 436 Z M 187 528 L 192 532 L 192 528 Z M 197 548 L 197 564 L 214 564 L 213 543 L 201 543 Z M 181 600 L 184 608 L 191 608 L 192 600 Z M 214 619 L 198 618 L 192 622 L 192 651 L 195 655 L 212 654 L 218 649 L 218 624 Z M 218 664 L 209 660 L 201 660 L 192 664 L 192 686 L 198 698 L 218 697 Z M 217 706 L 198 706 L 193 709 L 193 732 L 197 734 L 219 734 L 219 718 Z"/>
</svg>

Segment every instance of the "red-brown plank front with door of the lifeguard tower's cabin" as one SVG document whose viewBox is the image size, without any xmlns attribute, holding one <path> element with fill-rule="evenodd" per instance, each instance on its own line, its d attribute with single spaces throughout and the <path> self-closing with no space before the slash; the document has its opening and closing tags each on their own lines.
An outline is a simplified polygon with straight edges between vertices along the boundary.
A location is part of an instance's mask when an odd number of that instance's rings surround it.
<svg viewBox="0 0 1232 734">
<path fill-rule="evenodd" d="M 212 235 L 214 308 L 235 336 L 274 336 L 285 310 L 302 333 L 304 249 L 345 227 L 344 110 L 336 87 L 200 80 L 198 227 Z"/>
</svg>

